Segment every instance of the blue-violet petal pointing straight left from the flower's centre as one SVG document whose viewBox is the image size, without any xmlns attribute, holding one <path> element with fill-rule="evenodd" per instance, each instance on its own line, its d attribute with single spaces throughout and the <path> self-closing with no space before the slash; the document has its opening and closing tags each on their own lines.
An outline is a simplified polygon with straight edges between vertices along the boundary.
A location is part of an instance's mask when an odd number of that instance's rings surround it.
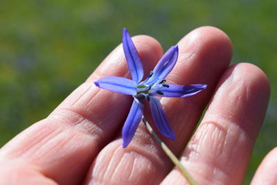
<svg viewBox="0 0 277 185">
<path fill-rule="evenodd" d="M 107 76 L 100 78 L 94 84 L 102 89 L 119 94 L 136 95 L 136 82 L 123 77 Z"/>
</svg>

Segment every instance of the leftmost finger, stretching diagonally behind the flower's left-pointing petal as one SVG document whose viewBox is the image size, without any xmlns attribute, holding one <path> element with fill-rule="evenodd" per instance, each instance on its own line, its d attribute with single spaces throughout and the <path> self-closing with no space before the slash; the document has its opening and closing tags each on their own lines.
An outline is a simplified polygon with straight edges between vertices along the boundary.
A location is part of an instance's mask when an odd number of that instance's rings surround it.
<svg viewBox="0 0 277 185">
<path fill-rule="evenodd" d="M 161 58 L 161 45 L 142 35 L 134 37 L 134 43 L 145 71 L 150 71 Z M 122 127 L 132 103 L 131 98 L 99 89 L 93 80 L 104 76 L 128 77 L 127 71 L 120 45 L 48 118 L 4 146 L 0 158 L 27 161 L 59 184 L 80 183 L 93 158 Z"/>
</svg>

